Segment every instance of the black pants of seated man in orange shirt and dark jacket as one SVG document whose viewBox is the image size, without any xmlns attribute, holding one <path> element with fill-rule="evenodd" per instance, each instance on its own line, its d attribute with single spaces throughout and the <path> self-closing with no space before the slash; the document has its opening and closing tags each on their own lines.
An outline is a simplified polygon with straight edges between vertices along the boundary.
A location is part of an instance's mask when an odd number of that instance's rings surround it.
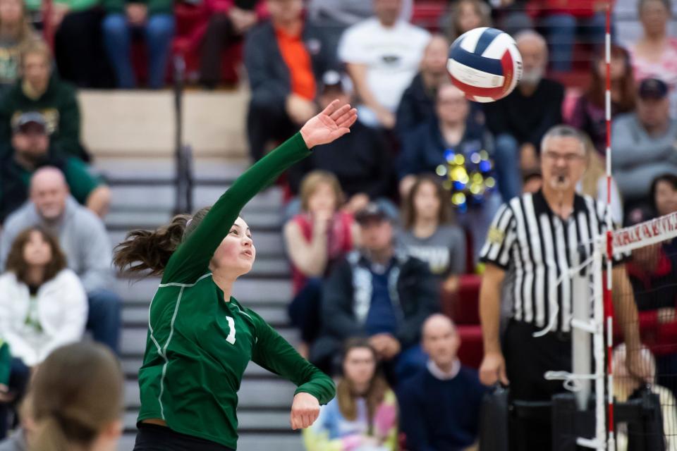
<svg viewBox="0 0 677 451">
<path fill-rule="evenodd" d="M 247 113 L 247 137 L 252 159 L 260 160 L 270 142 L 283 142 L 299 128 L 287 116 L 283 101 L 278 104 L 272 99 L 252 99 Z"/>
</svg>

